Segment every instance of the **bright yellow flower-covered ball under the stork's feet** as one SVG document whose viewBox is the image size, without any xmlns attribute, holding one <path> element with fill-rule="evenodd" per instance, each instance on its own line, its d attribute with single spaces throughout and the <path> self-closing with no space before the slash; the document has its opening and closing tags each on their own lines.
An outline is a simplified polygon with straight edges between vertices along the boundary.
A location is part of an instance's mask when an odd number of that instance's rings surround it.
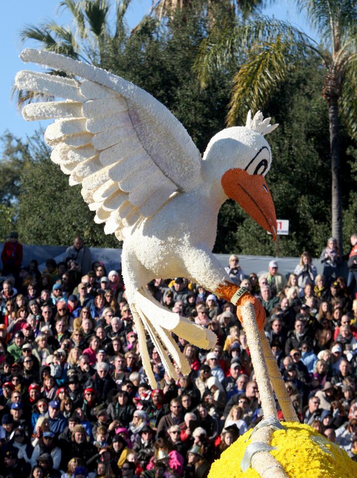
<svg viewBox="0 0 357 478">
<path fill-rule="evenodd" d="M 282 465 L 289 478 L 356 478 L 357 462 L 351 460 L 338 445 L 331 443 L 314 428 L 301 423 L 283 423 L 286 430 L 276 430 L 270 445 L 271 455 Z M 249 468 L 242 472 L 240 464 L 251 431 L 234 442 L 211 467 L 208 478 L 260 478 Z M 247 440 L 247 442 L 246 442 Z"/>
</svg>

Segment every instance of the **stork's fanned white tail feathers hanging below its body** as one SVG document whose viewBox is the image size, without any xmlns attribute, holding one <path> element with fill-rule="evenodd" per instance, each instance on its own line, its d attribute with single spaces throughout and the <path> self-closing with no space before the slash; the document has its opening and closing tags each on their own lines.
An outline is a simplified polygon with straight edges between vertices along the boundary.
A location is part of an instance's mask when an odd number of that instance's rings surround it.
<svg viewBox="0 0 357 478">
<path fill-rule="evenodd" d="M 211 349 L 217 341 L 212 331 L 203 329 L 188 319 L 169 311 L 159 304 L 145 289 L 136 291 L 135 304 L 131 305 L 131 309 L 138 332 L 143 366 L 153 388 L 156 387 L 156 380 L 150 364 L 144 328 L 155 345 L 166 372 L 175 380 L 178 380 L 178 373 L 173 361 L 184 375 L 188 375 L 191 367 L 178 349 L 176 342 L 171 336 L 171 332 L 202 349 Z"/>
</svg>

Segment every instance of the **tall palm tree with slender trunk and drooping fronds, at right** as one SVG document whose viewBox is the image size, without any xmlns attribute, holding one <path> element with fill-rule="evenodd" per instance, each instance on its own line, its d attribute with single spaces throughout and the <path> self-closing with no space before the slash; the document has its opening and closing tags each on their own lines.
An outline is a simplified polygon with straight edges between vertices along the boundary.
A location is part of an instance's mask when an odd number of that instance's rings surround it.
<svg viewBox="0 0 357 478">
<path fill-rule="evenodd" d="M 342 250 L 339 124 L 344 120 L 350 135 L 357 139 L 357 3 L 298 0 L 298 4 L 317 28 L 319 44 L 287 22 L 262 17 L 213 31 L 202 42 L 196 68 L 204 86 L 213 69 L 229 71 L 238 63 L 227 116 L 231 126 L 246 114 L 245 110 L 262 108 L 306 55 L 317 55 L 325 70 L 321 89 L 329 111 L 332 235 Z"/>
</svg>

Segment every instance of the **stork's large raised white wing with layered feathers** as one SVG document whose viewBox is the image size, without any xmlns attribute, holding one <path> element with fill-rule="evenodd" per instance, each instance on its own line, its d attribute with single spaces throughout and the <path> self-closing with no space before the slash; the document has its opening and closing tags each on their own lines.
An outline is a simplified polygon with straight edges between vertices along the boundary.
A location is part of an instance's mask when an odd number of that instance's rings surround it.
<svg viewBox="0 0 357 478">
<path fill-rule="evenodd" d="M 122 239 L 122 228 L 157 212 L 200 177 L 201 156 L 182 124 L 141 88 L 100 68 L 56 53 L 25 49 L 24 62 L 72 78 L 20 71 L 17 88 L 65 101 L 32 103 L 27 120 L 55 119 L 45 132 L 51 159 L 82 183 L 94 221 Z"/>
</svg>

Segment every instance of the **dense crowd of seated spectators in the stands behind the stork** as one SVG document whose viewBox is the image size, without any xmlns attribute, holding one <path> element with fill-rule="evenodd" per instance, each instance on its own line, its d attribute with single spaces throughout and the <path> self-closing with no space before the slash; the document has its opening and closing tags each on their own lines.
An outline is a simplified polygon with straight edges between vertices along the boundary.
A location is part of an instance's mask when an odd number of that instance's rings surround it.
<svg viewBox="0 0 357 478">
<path fill-rule="evenodd" d="M 303 252 L 230 280 L 258 297 L 266 335 L 301 422 L 357 457 L 357 235 L 342 257 L 331 238 L 317 274 Z M 90 262 L 81 238 L 63 262 L 23 267 L 17 233 L 1 254 L 0 463 L 13 478 L 205 478 L 214 459 L 263 416 L 244 330 L 231 303 L 199 284 L 155 279 L 165 307 L 217 335 L 212 350 L 175 337 L 191 373 L 170 378 L 148 347 L 152 390 L 120 270 Z M 348 261 L 349 277 L 340 275 Z M 281 412 L 279 417 L 282 419 Z"/>
</svg>

